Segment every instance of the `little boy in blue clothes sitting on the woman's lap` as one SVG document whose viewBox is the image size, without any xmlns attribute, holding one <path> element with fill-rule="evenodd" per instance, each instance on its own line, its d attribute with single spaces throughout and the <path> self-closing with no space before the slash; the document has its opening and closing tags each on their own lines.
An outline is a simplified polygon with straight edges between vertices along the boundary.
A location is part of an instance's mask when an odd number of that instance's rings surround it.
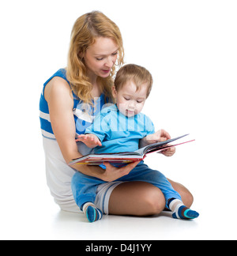
<svg viewBox="0 0 237 256">
<path fill-rule="evenodd" d="M 148 70 L 132 64 L 123 66 L 117 73 L 112 88 L 116 104 L 104 108 L 96 115 L 92 126 L 89 126 L 77 141 L 94 148 L 95 153 L 137 150 L 143 137 L 155 133 L 152 121 L 141 113 L 151 88 L 152 75 Z M 194 219 L 199 216 L 197 212 L 183 205 L 179 193 L 160 171 L 150 169 L 143 161 L 117 181 L 152 183 L 164 194 L 166 207 L 171 209 L 174 218 Z M 79 172 L 76 172 L 72 179 L 75 201 L 90 222 L 100 220 L 103 216 L 103 209 L 94 205 L 96 189 L 102 183 L 105 182 Z"/>
</svg>

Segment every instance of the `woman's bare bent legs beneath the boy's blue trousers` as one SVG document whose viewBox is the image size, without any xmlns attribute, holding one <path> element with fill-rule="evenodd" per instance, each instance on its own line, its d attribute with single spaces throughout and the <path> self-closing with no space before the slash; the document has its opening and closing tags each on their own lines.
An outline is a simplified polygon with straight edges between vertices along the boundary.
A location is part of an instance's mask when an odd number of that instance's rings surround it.
<svg viewBox="0 0 237 256">
<path fill-rule="evenodd" d="M 190 191 L 180 183 L 168 179 L 181 195 L 183 203 L 190 207 L 194 198 Z M 111 193 L 109 214 L 149 216 L 159 214 L 165 208 L 164 194 L 156 186 L 144 182 L 121 183 Z"/>
</svg>

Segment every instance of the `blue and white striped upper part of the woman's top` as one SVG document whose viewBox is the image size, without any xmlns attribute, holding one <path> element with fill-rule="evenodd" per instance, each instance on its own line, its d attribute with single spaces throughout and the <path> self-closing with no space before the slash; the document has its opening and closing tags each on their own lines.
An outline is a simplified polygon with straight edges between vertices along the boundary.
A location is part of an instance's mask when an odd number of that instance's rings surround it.
<svg viewBox="0 0 237 256">
<path fill-rule="evenodd" d="M 49 115 L 49 109 L 47 101 L 44 98 L 44 89 L 45 86 L 53 77 L 62 77 L 64 80 L 70 82 L 66 79 L 66 70 L 61 69 L 58 70 L 52 77 L 50 77 L 44 84 L 43 84 L 43 92 L 40 96 L 40 127 L 43 137 L 47 137 L 50 139 L 55 140 L 55 134 L 52 130 L 51 126 L 51 119 Z M 95 118 L 95 116 L 101 111 L 101 108 L 105 104 L 105 96 L 101 94 L 100 98 L 95 98 L 93 101 L 93 109 L 91 106 L 85 106 L 82 101 L 73 93 L 73 115 L 76 125 L 76 133 L 75 137 L 79 134 L 84 134 L 85 129 L 90 126 Z M 89 111 L 88 111 L 89 107 Z M 88 114 L 90 112 L 91 114 Z"/>
</svg>

